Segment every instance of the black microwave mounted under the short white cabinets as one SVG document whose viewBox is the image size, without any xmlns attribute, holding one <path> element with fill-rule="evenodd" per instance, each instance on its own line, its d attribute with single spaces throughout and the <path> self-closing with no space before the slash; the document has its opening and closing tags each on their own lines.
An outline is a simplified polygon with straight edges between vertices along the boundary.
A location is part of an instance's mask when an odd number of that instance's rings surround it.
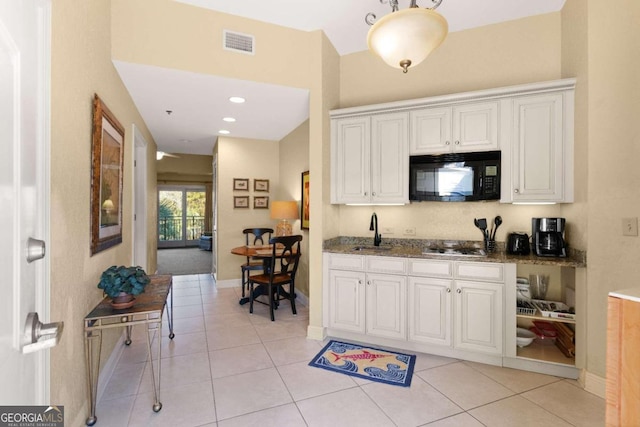
<svg viewBox="0 0 640 427">
<path fill-rule="evenodd" d="M 409 199 L 500 199 L 500 151 L 411 156 Z"/>
</svg>

